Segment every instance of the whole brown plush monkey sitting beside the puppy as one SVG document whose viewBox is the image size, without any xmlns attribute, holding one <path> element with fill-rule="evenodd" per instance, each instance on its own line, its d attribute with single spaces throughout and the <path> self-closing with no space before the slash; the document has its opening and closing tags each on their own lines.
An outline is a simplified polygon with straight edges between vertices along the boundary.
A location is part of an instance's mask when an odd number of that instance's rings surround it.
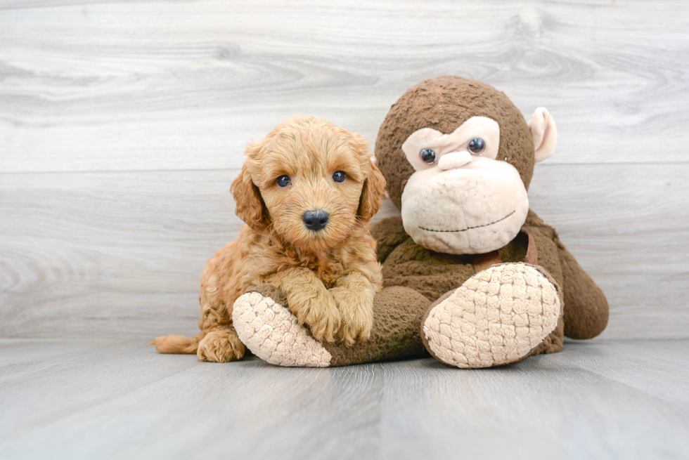
<svg viewBox="0 0 689 460">
<path fill-rule="evenodd" d="M 373 226 L 385 289 L 371 338 L 319 343 L 262 286 L 235 303 L 240 339 L 287 366 L 337 366 L 427 351 L 456 367 L 555 353 L 565 335 L 605 329 L 603 292 L 529 209 L 534 164 L 553 154 L 548 111 L 524 120 L 495 88 L 438 77 L 410 88 L 378 131 L 375 155 L 401 217 Z"/>
</svg>

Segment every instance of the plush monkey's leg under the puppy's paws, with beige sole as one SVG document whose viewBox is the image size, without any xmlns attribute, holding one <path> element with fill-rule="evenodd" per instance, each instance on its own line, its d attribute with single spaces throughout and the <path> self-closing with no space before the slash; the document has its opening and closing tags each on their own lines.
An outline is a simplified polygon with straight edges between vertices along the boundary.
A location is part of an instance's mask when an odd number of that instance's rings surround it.
<svg viewBox="0 0 689 460">
<path fill-rule="evenodd" d="M 234 303 L 233 324 L 239 338 L 271 364 L 333 367 L 426 355 L 419 330 L 430 301 L 413 289 L 388 287 L 376 294 L 371 337 L 351 347 L 316 341 L 287 306 L 281 291 L 265 284 Z"/>
</svg>

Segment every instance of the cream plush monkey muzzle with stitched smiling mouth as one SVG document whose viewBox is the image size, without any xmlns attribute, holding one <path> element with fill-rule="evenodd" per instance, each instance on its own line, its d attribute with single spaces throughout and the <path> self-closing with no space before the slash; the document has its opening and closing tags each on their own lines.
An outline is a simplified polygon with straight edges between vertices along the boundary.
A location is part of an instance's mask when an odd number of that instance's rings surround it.
<svg viewBox="0 0 689 460">
<path fill-rule="evenodd" d="M 446 254 L 485 254 L 504 247 L 529 211 L 517 169 L 484 157 L 459 168 L 416 171 L 401 204 L 404 230 L 414 242 Z"/>
</svg>

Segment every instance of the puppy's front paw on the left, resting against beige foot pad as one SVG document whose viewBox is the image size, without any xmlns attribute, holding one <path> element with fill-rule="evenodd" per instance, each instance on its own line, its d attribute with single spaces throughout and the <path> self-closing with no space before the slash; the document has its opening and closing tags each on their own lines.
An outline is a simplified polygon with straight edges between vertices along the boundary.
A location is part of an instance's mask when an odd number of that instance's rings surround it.
<svg viewBox="0 0 689 460">
<path fill-rule="evenodd" d="M 337 310 L 335 299 L 328 291 L 318 292 L 301 301 L 290 299 L 290 310 L 300 324 L 307 324 L 311 335 L 318 341 L 334 342 L 337 331 L 342 324 L 340 310 Z"/>
</svg>

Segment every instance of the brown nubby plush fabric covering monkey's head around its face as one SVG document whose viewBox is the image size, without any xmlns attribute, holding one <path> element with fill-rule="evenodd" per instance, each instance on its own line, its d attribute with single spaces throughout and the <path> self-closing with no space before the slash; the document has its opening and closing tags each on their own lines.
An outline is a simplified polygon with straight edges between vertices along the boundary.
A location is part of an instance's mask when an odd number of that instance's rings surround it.
<svg viewBox="0 0 689 460">
<path fill-rule="evenodd" d="M 488 117 L 498 122 L 499 159 L 507 157 L 528 190 L 534 173 L 534 143 L 521 112 L 492 86 L 445 75 L 409 88 L 392 105 L 378 130 L 375 158 L 397 209 L 401 209 L 402 190 L 414 172 L 401 149 L 406 138 L 421 128 L 449 134 L 471 117 Z M 503 152 L 509 154 L 502 155 Z"/>
</svg>

